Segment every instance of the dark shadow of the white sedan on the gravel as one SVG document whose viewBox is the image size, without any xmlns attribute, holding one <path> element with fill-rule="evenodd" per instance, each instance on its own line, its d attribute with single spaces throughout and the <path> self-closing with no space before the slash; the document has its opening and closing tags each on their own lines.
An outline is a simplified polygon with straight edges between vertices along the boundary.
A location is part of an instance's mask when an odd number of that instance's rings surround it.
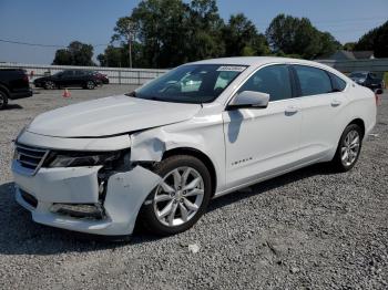
<svg viewBox="0 0 388 290">
<path fill-rule="evenodd" d="M 268 190 L 295 183 L 314 175 L 329 174 L 320 166 L 309 166 L 294 173 L 273 178 L 251 186 L 249 190 L 222 196 L 212 200 L 207 213 L 217 210 L 232 203 L 266 194 Z M 84 252 L 103 249 L 114 249 L 123 245 L 153 242 L 162 239 L 149 234 L 141 225 L 136 225 L 133 236 L 129 239 L 101 237 L 96 235 L 78 234 L 69 230 L 35 224 L 31 214 L 14 200 L 13 183 L 0 185 L 0 253 L 3 255 L 57 255 L 63 252 Z"/>
</svg>

